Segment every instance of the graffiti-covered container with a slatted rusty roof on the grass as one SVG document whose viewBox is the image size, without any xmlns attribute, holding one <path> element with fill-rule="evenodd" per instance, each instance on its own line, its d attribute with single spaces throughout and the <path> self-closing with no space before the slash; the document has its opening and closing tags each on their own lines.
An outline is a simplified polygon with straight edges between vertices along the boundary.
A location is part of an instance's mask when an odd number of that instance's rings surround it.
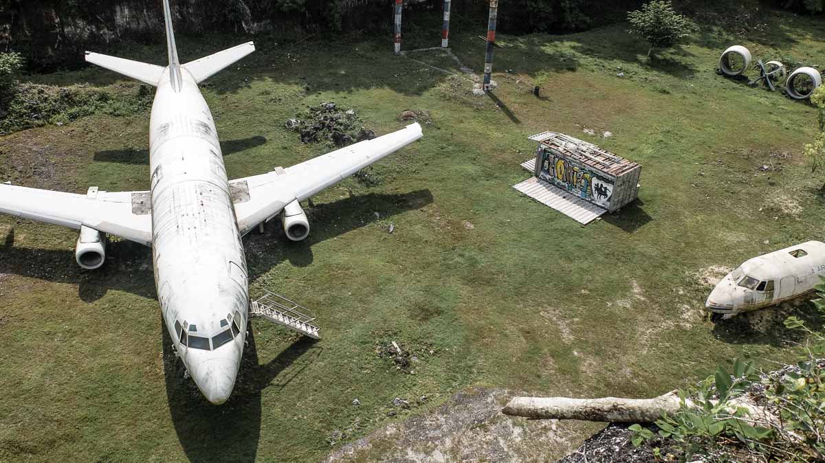
<svg viewBox="0 0 825 463">
<path fill-rule="evenodd" d="M 535 176 L 612 213 L 639 194 L 642 166 L 563 133 L 530 137 L 539 143 Z"/>
</svg>

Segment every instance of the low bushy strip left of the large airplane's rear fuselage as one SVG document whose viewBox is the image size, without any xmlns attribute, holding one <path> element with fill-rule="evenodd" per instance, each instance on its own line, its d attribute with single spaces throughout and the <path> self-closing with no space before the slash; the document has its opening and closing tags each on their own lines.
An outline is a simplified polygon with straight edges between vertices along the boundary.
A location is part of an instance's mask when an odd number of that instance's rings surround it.
<svg viewBox="0 0 825 463">
<path fill-rule="evenodd" d="M 93 114 L 133 115 L 152 105 L 152 91 L 144 85 L 137 91 L 84 87 L 54 87 L 24 83 L 0 115 L 0 131 L 15 132 L 45 124 L 65 123 Z"/>
</svg>

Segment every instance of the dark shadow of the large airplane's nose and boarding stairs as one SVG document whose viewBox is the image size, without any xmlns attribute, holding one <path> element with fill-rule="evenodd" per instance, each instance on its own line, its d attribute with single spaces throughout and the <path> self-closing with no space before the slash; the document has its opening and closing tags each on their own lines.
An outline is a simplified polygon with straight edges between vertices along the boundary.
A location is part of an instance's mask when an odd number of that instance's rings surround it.
<svg viewBox="0 0 825 463">
<path fill-rule="evenodd" d="M 184 378 L 185 368 L 175 355 L 163 319 L 160 320 L 160 330 L 163 335 L 163 373 L 169 413 L 186 458 L 195 462 L 256 461 L 262 432 L 262 391 L 270 386 L 286 386 L 306 365 L 314 362 L 322 350 L 314 347 L 317 343 L 315 339 L 302 337 L 271 362 L 260 365 L 250 322 L 232 396 L 223 405 L 212 405 L 191 379 Z M 313 355 L 304 358 L 304 367 L 290 376 L 281 377 L 285 369 L 308 355 L 309 351 Z"/>
</svg>

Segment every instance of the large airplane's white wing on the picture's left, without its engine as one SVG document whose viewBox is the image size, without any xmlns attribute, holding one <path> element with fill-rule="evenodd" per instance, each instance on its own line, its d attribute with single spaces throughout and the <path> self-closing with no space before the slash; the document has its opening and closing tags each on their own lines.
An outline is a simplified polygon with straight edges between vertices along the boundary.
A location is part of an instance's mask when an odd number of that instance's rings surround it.
<svg viewBox="0 0 825 463">
<path fill-rule="evenodd" d="M 79 230 L 81 226 L 152 246 L 148 191 L 87 194 L 0 185 L 0 213 Z"/>
</svg>

